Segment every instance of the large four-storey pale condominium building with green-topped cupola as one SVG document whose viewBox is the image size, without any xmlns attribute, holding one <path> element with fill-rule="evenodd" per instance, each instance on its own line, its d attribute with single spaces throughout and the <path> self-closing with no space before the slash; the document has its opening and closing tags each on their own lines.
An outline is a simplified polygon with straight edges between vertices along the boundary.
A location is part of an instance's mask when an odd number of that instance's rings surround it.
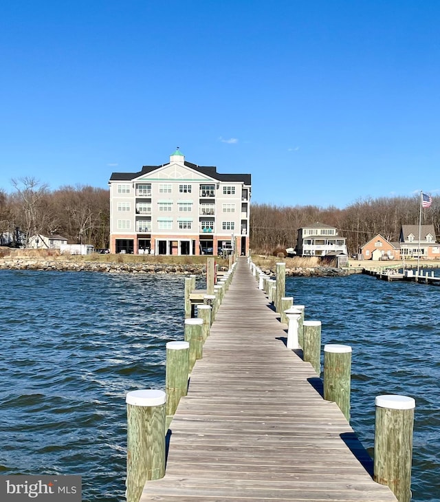
<svg viewBox="0 0 440 502">
<path fill-rule="evenodd" d="M 134 254 L 217 254 L 249 250 L 250 174 L 220 174 L 186 162 L 137 173 L 112 173 L 110 251 Z"/>
</svg>

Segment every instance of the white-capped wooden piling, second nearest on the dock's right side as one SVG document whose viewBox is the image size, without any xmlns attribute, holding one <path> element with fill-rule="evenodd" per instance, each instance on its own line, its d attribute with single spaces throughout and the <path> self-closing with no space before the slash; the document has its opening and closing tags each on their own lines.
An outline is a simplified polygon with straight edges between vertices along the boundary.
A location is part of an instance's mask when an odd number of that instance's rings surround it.
<svg viewBox="0 0 440 502">
<path fill-rule="evenodd" d="M 324 399 L 338 404 L 350 422 L 351 347 L 324 346 Z"/>
</svg>

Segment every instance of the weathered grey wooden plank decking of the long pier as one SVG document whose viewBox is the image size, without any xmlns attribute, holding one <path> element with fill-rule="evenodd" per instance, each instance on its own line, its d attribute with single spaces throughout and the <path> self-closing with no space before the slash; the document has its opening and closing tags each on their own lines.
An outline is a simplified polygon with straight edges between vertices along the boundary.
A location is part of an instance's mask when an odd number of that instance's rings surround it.
<svg viewBox="0 0 440 502">
<path fill-rule="evenodd" d="M 141 501 L 396 501 L 257 286 L 240 259 Z"/>
</svg>

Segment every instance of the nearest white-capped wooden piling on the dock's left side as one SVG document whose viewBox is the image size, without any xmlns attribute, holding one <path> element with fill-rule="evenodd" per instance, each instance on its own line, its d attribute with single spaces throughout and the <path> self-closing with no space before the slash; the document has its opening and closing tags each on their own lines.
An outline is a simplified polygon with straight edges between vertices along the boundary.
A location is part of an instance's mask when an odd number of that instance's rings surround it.
<svg viewBox="0 0 440 502">
<path fill-rule="evenodd" d="M 139 502 L 146 481 L 165 475 L 164 391 L 131 391 L 126 395 L 126 501 Z"/>
</svg>

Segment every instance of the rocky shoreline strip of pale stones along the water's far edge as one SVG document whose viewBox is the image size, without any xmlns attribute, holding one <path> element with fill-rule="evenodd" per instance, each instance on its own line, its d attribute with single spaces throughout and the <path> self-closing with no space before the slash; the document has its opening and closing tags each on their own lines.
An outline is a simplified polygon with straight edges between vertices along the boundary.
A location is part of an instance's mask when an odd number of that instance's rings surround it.
<svg viewBox="0 0 440 502">
<path fill-rule="evenodd" d="M 206 274 L 205 265 L 170 265 L 168 263 L 118 263 L 99 261 L 68 261 L 36 258 L 0 259 L 0 270 L 52 270 L 58 272 L 113 272 L 135 274 Z M 225 271 L 227 268 L 221 267 Z M 263 269 L 265 274 L 274 274 L 275 270 Z M 344 276 L 348 271 L 334 267 L 296 267 L 286 268 L 287 276 L 323 277 Z"/>
</svg>

